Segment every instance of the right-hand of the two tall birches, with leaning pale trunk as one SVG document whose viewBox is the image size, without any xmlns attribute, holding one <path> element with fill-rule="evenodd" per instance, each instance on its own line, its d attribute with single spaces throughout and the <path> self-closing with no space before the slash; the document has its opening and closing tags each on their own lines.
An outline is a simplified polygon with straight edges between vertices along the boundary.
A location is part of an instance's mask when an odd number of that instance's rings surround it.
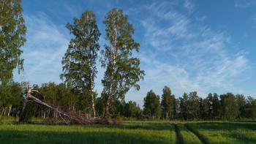
<svg viewBox="0 0 256 144">
<path fill-rule="evenodd" d="M 110 101 L 113 96 L 124 99 L 130 88 L 139 90 L 138 81 L 143 79 L 144 71 L 140 69 L 140 60 L 132 56 L 139 52 L 140 44 L 132 39 L 134 29 L 127 22 L 128 15 L 117 8 L 107 12 L 103 23 L 106 26 L 105 39 L 108 45 L 102 50 L 102 67 L 106 69 L 102 80 L 102 93 L 108 94 L 104 118 L 108 117 Z"/>
</svg>

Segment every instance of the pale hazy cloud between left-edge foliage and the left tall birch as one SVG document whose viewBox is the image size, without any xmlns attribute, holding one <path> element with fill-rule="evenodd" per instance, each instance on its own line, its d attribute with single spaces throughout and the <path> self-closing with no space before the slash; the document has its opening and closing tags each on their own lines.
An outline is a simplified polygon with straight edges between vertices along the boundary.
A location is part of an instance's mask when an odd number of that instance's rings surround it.
<svg viewBox="0 0 256 144">
<path fill-rule="evenodd" d="M 56 26 L 44 12 L 24 15 L 27 42 L 23 47 L 24 72 L 31 84 L 59 83 L 61 58 L 69 43 L 69 32 Z M 16 76 L 16 79 L 18 76 Z"/>
</svg>

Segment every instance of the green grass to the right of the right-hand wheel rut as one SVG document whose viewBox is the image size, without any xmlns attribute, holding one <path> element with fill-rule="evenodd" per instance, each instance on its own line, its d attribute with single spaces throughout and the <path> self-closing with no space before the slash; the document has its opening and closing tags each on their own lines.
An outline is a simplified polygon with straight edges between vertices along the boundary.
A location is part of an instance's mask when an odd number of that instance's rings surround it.
<svg viewBox="0 0 256 144">
<path fill-rule="evenodd" d="M 256 143 L 255 122 L 206 122 L 187 126 L 206 143 Z"/>
</svg>

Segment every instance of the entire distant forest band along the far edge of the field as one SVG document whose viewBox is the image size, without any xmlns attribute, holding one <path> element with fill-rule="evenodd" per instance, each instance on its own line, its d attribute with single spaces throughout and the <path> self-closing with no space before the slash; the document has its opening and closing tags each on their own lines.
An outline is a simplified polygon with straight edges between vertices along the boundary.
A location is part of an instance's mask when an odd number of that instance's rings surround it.
<svg viewBox="0 0 256 144">
<path fill-rule="evenodd" d="M 74 86 L 67 83 L 43 83 L 34 85 L 33 89 L 45 96 L 44 101 L 50 104 L 68 107 L 80 113 L 91 115 L 91 96 L 89 91 L 76 91 Z M 144 97 L 143 110 L 136 102 L 125 102 L 113 98 L 110 105 L 110 118 L 118 120 L 248 120 L 256 118 L 256 99 L 243 94 L 208 94 L 205 99 L 197 96 L 197 91 L 184 93 L 181 97 L 171 94 L 165 86 L 160 96 L 154 91 L 148 91 Z M 18 116 L 24 104 L 26 83 L 12 83 L 0 87 L 0 95 L 7 94 L 1 99 L 1 116 Z M 96 96 L 96 94 L 94 95 Z M 102 94 L 95 100 L 97 117 L 103 117 L 108 97 Z M 33 115 L 37 118 L 54 117 L 54 113 L 44 107 L 34 106 Z"/>
</svg>

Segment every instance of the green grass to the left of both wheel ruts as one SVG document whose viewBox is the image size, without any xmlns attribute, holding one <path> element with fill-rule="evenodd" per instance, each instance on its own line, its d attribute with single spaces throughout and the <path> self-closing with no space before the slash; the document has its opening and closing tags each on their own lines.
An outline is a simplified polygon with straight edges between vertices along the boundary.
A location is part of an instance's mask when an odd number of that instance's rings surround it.
<svg viewBox="0 0 256 144">
<path fill-rule="evenodd" d="M 1 143 L 175 143 L 173 125 L 128 123 L 124 125 L 45 126 L 8 124 L 0 126 Z"/>
</svg>

